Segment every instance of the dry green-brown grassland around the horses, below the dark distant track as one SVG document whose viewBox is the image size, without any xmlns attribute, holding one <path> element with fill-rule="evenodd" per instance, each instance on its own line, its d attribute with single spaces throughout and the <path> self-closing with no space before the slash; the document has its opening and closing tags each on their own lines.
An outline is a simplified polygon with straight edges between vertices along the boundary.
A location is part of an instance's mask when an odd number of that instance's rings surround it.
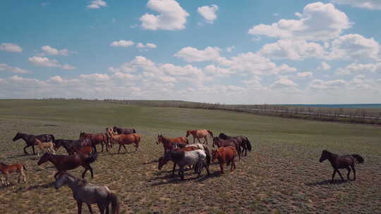
<svg viewBox="0 0 381 214">
<path fill-rule="evenodd" d="M 0 187 L 0 210 L 6 213 L 75 213 L 71 190 L 52 187 L 55 169 L 37 166 L 36 156 L 24 156 L 16 132 L 54 134 L 78 139 L 80 131 L 105 127 L 135 127 L 143 134 L 141 149 L 117 155 L 101 153 L 92 165 L 94 184 L 107 185 L 120 197 L 121 213 L 381 213 L 381 132 L 373 125 L 267 117 L 250 113 L 189 108 L 150 108 L 118 103 L 57 100 L 0 101 L 0 161 L 25 163 L 26 184 L 11 180 Z M 161 133 L 183 136 L 188 129 L 246 135 L 253 151 L 236 163 L 237 170 L 186 180 L 169 176 L 171 165 L 157 170 Z M 322 149 L 359 153 L 357 180 L 329 184 L 332 168 L 318 163 Z M 29 150 L 30 151 L 30 150 Z M 59 153 L 63 153 L 60 150 Z M 80 177 L 82 168 L 71 171 Z M 342 171 L 343 175 L 346 172 Z M 338 179 L 339 177 L 337 177 Z M 95 207 L 94 207 L 95 208 Z M 84 213 L 87 208 L 84 207 Z"/>
</svg>

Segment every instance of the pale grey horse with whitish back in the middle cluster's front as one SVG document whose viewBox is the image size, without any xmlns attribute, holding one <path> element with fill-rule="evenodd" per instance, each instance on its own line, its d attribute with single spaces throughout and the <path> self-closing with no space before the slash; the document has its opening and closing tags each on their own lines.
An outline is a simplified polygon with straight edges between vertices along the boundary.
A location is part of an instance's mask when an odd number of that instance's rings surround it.
<svg viewBox="0 0 381 214">
<path fill-rule="evenodd" d="M 183 151 L 181 149 L 175 151 L 169 151 L 164 156 L 159 158 L 159 165 L 157 168 L 162 170 L 163 165 L 167 164 L 169 160 L 179 165 L 179 176 L 181 180 L 184 179 L 184 167 L 186 165 L 196 165 L 195 171 L 198 172 L 198 176 L 201 175 L 202 168 L 207 170 L 207 175 L 210 175 L 209 165 L 205 163 L 207 155 L 202 149 L 193 151 Z"/>
</svg>

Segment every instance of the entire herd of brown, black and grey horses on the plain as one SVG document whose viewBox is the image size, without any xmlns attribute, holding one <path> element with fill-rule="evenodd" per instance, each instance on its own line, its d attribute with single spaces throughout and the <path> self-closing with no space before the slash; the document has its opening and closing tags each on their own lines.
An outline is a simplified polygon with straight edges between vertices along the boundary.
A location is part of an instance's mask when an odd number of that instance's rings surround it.
<svg viewBox="0 0 381 214">
<path fill-rule="evenodd" d="M 188 136 L 193 136 L 193 144 L 189 144 Z M 207 136 L 212 137 L 212 147 L 217 146 L 217 149 L 210 149 L 207 147 Z M 88 183 L 86 180 L 80 180 L 73 175 L 68 174 L 67 170 L 72 170 L 82 166 L 85 171 L 82 173 L 82 177 L 85 178 L 85 173 L 90 170 L 91 177 L 93 177 L 93 169 L 90 166 L 95 160 L 97 160 L 97 144 L 102 146 L 102 152 L 104 145 L 106 150 L 112 148 L 113 144 L 118 143 L 118 153 L 123 146 L 123 149 L 127 151 L 126 144 L 135 144 L 135 151 L 139 149 L 139 143 L 141 135 L 137 134 L 133 128 L 106 128 L 106 132 L 99 134 L 87 134 L 80 132 L 78 140 L 71 139 L 55 139 L 53 134 L 40 134 L 31 135 L 18 132 L 13 141 L 23 139 L 26 146 L 23 148 L 25 154 L 28 152 L 25 150 L 28 147 L 32 147 L 33 154 L 35 154 L 35 146 L 38 146 L 37 156 L 40 151 L 44 154 L 38 160 L 37 165 L 42 165 L 47 161 L 51 162 L 57 172 L 54 174 L 56 182 L 54 187 L 59 189 L 64 185 L 70 187 L 73 191 L 74 199 L 77 201 L 78 213 L 82 212 L 82 203 L 87 203 L 87 207 L 92 212 L 90 204 L 97 203 L 97 206 L 101 213 L 109 213 L 109 204 L 111 205 L 111 213 L 119 213 L 119 199 L 112 191 L 105 186 L 98 186 Z M 195 143 L 195 139 L 198 143 Z M 204 139 L 201 143 L 200 139 Z M 248 151 L 252 150 L 252 145 L 247 137 L 236 136 L 231 137 L 224 133 L 220 133 L 219 137 L 214 137 L 210 130 L 188 130 L 186 137 L 169 138 L 164 137 L 162 134 L 157 135 L 156 144 L 162 144 L 164 147 L 164 154 L 158 160 L 158 169 L 169 161 L 174 163 L 172 175 L 174 175 L 176 165 L 179 165 L 179 177 L 184 179 L 184 170 L 188 166 L 194 170 L 198 176 L 201 175 L 202 170 L 205 168 L 207 175 L 210 175 L 209 165 L 214 160 L 219 161 L 220 172 L 224 173 L 224 165 L 231 165 L 231 171 L 236 168 L 235 158 L 241 160 L 241 156 L 247 156 Z M 66 149 L 68 155 L 56 155 L 55 151 L 60 147 Z M 334 168 L 332 175 L 332 181 L 334 181 L 334 175 L 336 172 L 340 175 L 341 180 L 344 180 L 339 169 L 346 168 L 348 170 L 347 178 L 349 180 L 349 174 L 353 170 L 353 180 L 356 180 L 356 170 L 354 168 L 355 163 L 363 163 L 364 159 L 358 154 L 338 156 L 327 150 L 322 151 L 320 157 L 320 163 L 324 160 L 329 160 Z M 12 172 L 18 172 L 18 182 L 21 178 L 26 182 L 25 177 L 25 165 L 17 163 L 13 165 L 6 165 L 0 163 L 0 171 L 6 178 L 5 182 L 1 177 L 1 184 L 9 185 L 8 175 Z"/>
</svg>

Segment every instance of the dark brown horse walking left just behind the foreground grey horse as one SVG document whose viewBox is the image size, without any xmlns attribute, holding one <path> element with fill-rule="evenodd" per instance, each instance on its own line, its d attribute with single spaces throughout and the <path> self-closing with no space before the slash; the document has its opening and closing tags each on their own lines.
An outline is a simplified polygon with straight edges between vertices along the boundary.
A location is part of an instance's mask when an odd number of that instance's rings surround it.
<svg viewBox="0 0 381 214">
<path fill-rule="evenodd" d="M 92 174 L 92 168 L 90 166 L 90 163 L 97 160 L 98 153 L 94 152 L 90 156 L 81 156 L 81 155 L 71 155 L 71 156 L 58 156 L 58 155 L 52 155 L 50 153 L 44 153 L 44 155 L 38 160 L 37 165 L 41 165 L 42 163 L 45 163 L 47 161 L 50 161 L 54 164 L 57 171 L 56 174 L 54 174 L 54 177 L 59 174 L 59 172 L 65 172 L 66 170 L 73 170 L 75 168 L 78 168 L 79 166 L 82 166 L 85 168 L 85 172 L 82 173 L 82 178 L 85 177 L 85 173 L 87 170 L 90 170 L 91 177 L 94 177 Z"/>
</svg>

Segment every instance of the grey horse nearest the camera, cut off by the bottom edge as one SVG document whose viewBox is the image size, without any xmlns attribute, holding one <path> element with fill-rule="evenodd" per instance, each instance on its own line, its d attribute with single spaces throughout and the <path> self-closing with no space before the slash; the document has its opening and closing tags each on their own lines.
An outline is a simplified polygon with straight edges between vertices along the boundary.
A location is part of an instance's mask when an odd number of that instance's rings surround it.
<svg viewBox="0 0 381 214">
<path fill-rule="evenodd" d="M 109 213 L 109 204 L 111 203 L 111 213 L 119 213 L 119 199 L 106 186 L 90 184 L 86 180 L 80 180 L 67 172 L 61 172 L 56 177 L 54 188 L 67 185 L 73 191 L 73 197 L 77 201 L 78 214 L 82 213 L 82 203 L 87 204 L 90 213 L 92 213 L 91 204 L 97 203 L 101 214 Z M 92 213 L 93 214 L 93 213 Z"/>
</svg>

